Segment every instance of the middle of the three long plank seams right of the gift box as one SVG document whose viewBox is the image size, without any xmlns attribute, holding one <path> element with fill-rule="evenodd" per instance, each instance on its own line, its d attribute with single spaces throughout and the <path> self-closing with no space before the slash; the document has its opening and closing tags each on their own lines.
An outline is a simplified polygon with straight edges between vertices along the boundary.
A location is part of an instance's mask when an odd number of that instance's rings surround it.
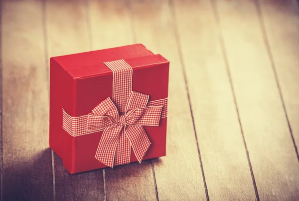
<svg viewBox="0 0 299 201">
<path fill-rule="evenodd" d="M 228 58 L 227 58 L 227 54 L 226 54 L 226 50 L 225 50 L 224 38 L 222 35 L 222 30 L 221 30 L 221 25 L 220 25 L 220 16 L 218 15 L 218 12 L 217 12 L 215 0 L 211 0 L 211 5 L 213 7 L 213 13 L 214 13 L 214 17 L 215 17 L 216 24 L 217 24 L 217 31 L 218 31 L 218 37 L 219 37 L 219 42 L 220 42 L 220 46 L 221 46 L 221 52 L 222 52 L 222 56 L 224 59 L 226 71 L 228 74 L 231 90 L 232 90 L 232 95 L 233 95 L 234 104 L 235 104 L 235 108 L 236 108 L 236 112 L 237 112 L 237 116 L 238 116 L 238 121 L 239 121 L 240 130 L 241 130 L 241 134 L 242 134 L 242 138 L 243 138 L 243 143 L 244 143 L 244 147 L 245 147 L 245 151 L 246 151 L 246 156 L 247 156 L 247 161 L 248 161 L 248 165 L 249 165 L 249 169 L 250 169 L 250 173 L 251 173 L 254 191 L 255 191 L 257 201 L 260 201 L 259 192 L 257 189 L 257 185 L 256 185 L 256 181 L 255 181 L 255 177 L 254 177 L 254 173 L 253 173 L 253 169 L 252 169 L 252 165 L 251 165 L 251 161 L 250 161 L 249 151 L 248 151 L 246 140 L 245 140 L 243 126 L 241 123 L 239 108 L 238 108 L 238 104 L 237 104 L 237 98 L 236 98 L 235 89 L 233 86 L 231 72 L 229 69 L 229 62 L 228 62 Z"/>
</svg>

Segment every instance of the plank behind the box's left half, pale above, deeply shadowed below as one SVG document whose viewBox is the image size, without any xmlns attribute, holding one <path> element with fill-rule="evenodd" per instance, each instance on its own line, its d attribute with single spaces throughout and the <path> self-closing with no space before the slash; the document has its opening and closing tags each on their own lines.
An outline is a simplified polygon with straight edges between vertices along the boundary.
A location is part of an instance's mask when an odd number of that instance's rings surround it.
<svg viewBox="0 0 299 201">
<path fill-rule="evenodd" d="M 82 0 L 46 1 L 48 58 L 90 50 L 87 9 Z M 101 170 L 70 175 L 55 154 L 56 200 L 104 200 Z"/>
</svg>

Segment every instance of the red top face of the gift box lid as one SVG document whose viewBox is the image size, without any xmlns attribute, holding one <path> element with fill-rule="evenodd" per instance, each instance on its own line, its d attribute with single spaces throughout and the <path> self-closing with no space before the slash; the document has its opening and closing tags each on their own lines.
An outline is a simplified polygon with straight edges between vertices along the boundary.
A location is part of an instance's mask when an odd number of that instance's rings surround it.
<svg viewBox="0 0 299 201">
<path fill-rule="evenodd" d="M 86 78 L 97 76 L 99 74 L 112 73 L 111 70 L 104 65 L 104 62 L 140 58 L 151 55 L 153 56 L 154 54 L 144 45 L 134 44 L 117 48 L 52 57 L 50 60 L 57 62 L 73 78 Z M 156 55 L 155 57 L 150 57 L 148 59 L 152 60 L 152 64 L 168 62 L 160 55 Z"/>
</svg>

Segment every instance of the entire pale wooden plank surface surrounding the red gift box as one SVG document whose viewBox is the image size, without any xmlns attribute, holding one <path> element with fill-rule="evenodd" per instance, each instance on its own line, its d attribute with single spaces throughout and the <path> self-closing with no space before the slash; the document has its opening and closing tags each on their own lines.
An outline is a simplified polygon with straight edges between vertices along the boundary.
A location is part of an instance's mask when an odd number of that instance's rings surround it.
<svg viewBox="0 0 299 201">
<path fill-rule="evenodd" d="M 299 200 L 296 0 L 1 0 L 0 34 L 1 201 Z M 133 43 L 171 64 L 167 156 L 70 175 L 49 58 Z"/>
</svg>

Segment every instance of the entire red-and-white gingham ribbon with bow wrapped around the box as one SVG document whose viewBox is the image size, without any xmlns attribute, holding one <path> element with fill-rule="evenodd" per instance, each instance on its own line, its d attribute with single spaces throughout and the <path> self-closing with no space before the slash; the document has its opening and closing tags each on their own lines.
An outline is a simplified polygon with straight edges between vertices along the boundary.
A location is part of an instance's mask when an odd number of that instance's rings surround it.
<svg viewBox="0 0 299 201">
<path fill-rule="evenodd" d="M 95 158 L 109 167 L 130 163 L 131 146 L 139 162 L 150 141 L 143 126 L 159 126 L 167 117 L 168 99 L 148 102 L 149 95 L 132 91 L 133 70 L 124 60 L 106 62 L 113 72 L 113 97 L 92 113 L 71 117 L 63 110 L 63 129 L 73 136 L 103 131 Z"/>
</svg>

